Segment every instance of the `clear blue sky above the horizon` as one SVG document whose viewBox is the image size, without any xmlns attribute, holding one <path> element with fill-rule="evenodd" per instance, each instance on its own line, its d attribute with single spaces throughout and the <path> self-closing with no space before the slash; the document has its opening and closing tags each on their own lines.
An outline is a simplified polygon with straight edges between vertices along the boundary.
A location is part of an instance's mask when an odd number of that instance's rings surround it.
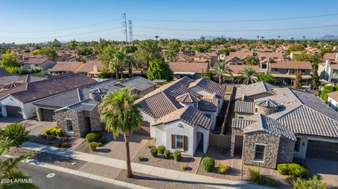
<svg viewBox="0 0 338 189">
<path fill-rule="evenodd" d="M 177 39 L 201 35 L 246 39 L 256 39 L 257 35 L 270 39 L 280 35 L 284 39 L 303 36 L 315 39 L 325 34 L 338 35 L 337 6 L 335 0 L 0 0 L 0 42 L 20 44 L 54 38 L 90 41 L 100 37 L 124 40 L 123 12 L 127 13 L 127 20 L 132 20 L 134 39 L 156 35 Z M 269 20 L 313 15 L 326 16 Z M 317 27 L 323 25 L 327 27 Z M 294 29 L 300 27 L 305 29 Z"/>
</svg>

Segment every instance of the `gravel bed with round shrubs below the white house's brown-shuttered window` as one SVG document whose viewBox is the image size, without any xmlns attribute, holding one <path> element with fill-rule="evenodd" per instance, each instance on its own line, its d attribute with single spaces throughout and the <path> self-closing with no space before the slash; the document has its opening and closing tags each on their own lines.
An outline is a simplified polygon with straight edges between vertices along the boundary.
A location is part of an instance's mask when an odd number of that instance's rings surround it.
<svg viewBox="0 0 338 189">
<path fill-rule="evenodd" d="M 155 141 L 151 140 L 149 143 L 144 145 L 144 147 L 139 151 L 139 153 L 132 159 L 132 162 L 139 164 L 147 164 L 154 167 L 161 167 L 165 169 L 173 169 L 176 171 L 182 171 L 181 166 L 188 166 L 187 171 L 193 172 L 194 167 L 198 167 L 199 162 L 196 161 L 197 158 L 182 155 L 180 162 L 175 162 L 173 154 L 170 155 L 169 159 L 165 159 L 163 155 L 158 155 L 158 157 L 152 157 L 148 144 L 155 145 Z M 138 157 L 143 156 L 144 161 L 140 162 Z M 196 165 L 195 165 L 196 164 Z M 196 168 L 195 168 L 196 169 Z"/>
</svg>

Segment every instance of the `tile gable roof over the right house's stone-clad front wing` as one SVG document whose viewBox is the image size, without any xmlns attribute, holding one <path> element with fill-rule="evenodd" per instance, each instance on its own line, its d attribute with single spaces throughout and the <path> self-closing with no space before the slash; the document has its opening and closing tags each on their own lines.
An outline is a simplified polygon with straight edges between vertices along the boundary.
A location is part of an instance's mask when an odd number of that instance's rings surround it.
<svg viewBox="0 0 338 189">
<path fill-rule="evenodd" d="M 258 121 L 246 126 L 244 128 L 244 133 L 252 133 L 255 131 L 265 131 L 274 136 L 284 137 L 296 141 L 296 136 L 294 133 L 287 129 L 285 126 L 282 126 L 280 122 L 277 122 L 275 119 L 266 117 L 265 115 L 258 115 Z"/>
</svg>

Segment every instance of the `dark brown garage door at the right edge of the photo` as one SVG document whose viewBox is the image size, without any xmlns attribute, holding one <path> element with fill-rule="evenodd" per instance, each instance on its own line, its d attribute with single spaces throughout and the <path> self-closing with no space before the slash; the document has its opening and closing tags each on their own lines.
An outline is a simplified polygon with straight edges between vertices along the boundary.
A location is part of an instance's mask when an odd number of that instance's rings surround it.
<svg viewBox="0 0 338 189">
<path fill-rule="evenodd" d="M 308 140 L 306 157 L 338 161 L 338 143 Z"/>
</svg>

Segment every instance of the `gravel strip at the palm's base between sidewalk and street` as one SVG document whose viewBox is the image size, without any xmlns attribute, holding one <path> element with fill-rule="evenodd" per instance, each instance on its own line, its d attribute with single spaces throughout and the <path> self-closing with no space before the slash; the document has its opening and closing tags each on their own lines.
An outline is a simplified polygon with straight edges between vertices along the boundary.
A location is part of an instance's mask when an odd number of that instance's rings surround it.
<svg viewBox="0 0 338 189">
<path fill-rule="evenodd" d="M 120 174 L 115 177 L 116 180 L 124 181 L 127 183 L 133 183 L 137 185 L 143 185 L 150 188 L 192 188 L 192 189 L 211 189 L 212 187 L 208 187 L 205 185 L 198 185 L 192 183 L 183 183 L 177 182 L 174 180 L 170 180 L 167 178 L 161 178 L 157 176 L 150 176 L 148 174 L 140 174 L 137 172 L 133 172 L 132 178 L 125 178 L 125 170 L 120 171 Z"/>
</svg>

